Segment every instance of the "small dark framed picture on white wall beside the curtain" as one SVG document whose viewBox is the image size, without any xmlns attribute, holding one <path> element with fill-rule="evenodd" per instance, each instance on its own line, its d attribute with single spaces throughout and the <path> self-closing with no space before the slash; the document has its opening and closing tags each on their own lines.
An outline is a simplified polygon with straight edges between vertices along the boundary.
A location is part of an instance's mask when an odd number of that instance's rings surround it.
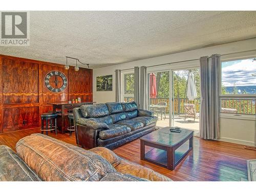
<svg viewBox="0 0 256 192">
<path fill-rule="evenodd" d="M 96 77 L 97 91 L 112 91 L 113 75 L 104 75 Z"/>
</svg>

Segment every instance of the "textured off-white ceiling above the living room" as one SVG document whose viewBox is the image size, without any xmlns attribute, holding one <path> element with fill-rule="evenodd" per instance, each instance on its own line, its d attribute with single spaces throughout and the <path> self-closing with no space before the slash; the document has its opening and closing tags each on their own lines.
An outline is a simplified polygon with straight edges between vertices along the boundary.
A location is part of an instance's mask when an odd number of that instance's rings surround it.
<svg viewBox="0 0 256 192">
<path fill-rule="evenodd" d="M 0 54 L 99 68 L 252 37 L 256 11 L 31 11 L 30 46 Z"/>
</svg>

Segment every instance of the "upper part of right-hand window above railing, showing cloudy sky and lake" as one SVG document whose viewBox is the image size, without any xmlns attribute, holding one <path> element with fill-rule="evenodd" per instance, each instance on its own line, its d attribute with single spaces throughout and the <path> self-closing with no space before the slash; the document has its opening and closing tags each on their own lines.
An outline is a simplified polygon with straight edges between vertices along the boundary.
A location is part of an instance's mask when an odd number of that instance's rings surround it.
<svg viewBox="0 0 256 192">
<path fill-rule="evenodd" d="M 221 94 L 256 94 L 256 58 L 221 63 Z"/>
</svg>

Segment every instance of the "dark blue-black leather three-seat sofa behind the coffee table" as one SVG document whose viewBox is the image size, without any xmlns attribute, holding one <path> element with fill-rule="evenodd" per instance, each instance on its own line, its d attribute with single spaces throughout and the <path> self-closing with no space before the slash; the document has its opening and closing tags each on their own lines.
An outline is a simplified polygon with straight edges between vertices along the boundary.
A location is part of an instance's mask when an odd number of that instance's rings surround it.
<svg viewBox="0 0 256 192">
<path fill-rule="evenodd" d="M 115 148 L 155 130 L 153 112 L 138 110 L 135 102 L 109 102 L 75 108 L 76 143 L 82 147 Z"/>
</svg>

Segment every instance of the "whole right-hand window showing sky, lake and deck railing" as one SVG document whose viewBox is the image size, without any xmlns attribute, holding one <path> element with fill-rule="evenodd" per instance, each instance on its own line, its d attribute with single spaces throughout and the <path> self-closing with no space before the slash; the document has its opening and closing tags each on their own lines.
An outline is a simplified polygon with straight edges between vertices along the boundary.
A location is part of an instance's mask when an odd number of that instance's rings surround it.
<svg viewBox="0 0 256 192">
<path fill-rule="evenodd" d="M 221 62 L 221 112 L 255 114 L 256 58 Z"/>
</svg>

